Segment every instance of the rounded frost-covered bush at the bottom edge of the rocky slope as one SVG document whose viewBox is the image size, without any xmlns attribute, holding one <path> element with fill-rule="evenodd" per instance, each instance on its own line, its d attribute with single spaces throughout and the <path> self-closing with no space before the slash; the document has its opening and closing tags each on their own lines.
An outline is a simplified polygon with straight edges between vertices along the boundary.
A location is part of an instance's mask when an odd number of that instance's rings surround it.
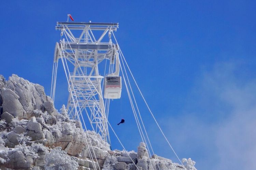
<svg viewBox="0 0 256 170">
<path fill-rule="evenodd" d="M 45 170 L 77 169 L 78 163 L 74 156 L 69 156 L 61 147 L 56 147 L 45 155 Z"/>
</svg>

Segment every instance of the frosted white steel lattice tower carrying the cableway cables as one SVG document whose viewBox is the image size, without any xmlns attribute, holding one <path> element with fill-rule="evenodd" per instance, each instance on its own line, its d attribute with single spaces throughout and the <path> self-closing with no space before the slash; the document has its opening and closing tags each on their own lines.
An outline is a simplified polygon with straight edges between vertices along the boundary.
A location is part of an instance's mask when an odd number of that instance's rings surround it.
<svg viewBox="0 0 256 170">
<path fill-rule="evenodd" d="M 117 28 L 118 23 L 91 22 L 57 22 L 56 26 L 63 39 L 56 44 L 54 62 L 57 63 L 61 57 L 69 61 L 65 65 L 71 87 L 67 104 L 69 115 L 73 119 L 87 117 L 92 130 L 109 143 L 108 121 L 101 87 L 104 77 L 99 73 L 98 64 L 103 60 L 110 60 L 110 65 L 114 65 L 118 49 L 112 43 L 111 34 Z M 73 68 L 69 68 L 71 66 Z"/>
</svg>

